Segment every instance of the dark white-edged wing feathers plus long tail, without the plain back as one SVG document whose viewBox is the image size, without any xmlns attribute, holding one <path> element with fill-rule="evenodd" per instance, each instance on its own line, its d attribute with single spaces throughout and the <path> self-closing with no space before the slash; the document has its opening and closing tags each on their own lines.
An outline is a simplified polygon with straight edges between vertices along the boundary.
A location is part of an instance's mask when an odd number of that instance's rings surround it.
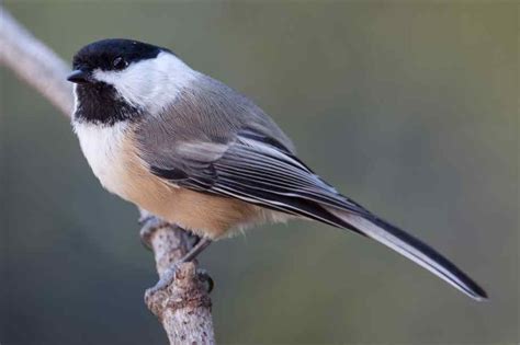
<svg viewBox="0 0 520 345">
<path fill-rule="evenodd" d="M 190 142 L 194 151 L 180 157 L 181 168 L 151 170 L 186 188 L 350 229 L 395 250 L 472 298 L 486 298 L 486 292 L 449 260 L 339 194 L 276 140 L 248 129 L 226 146 L 214 146 L 218 147 Z"/>
</svg>

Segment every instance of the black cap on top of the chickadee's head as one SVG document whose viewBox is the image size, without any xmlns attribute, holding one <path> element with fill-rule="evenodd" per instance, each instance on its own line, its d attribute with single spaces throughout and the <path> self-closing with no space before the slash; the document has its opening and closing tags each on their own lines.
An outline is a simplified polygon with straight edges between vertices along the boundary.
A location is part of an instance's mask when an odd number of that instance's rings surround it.
<svg viewBox="0 0 520 345">
<path fill-rule="evenodd" d="M 91 43 L 82 47 L 74 57 L 74 69 L 121 70 L 132 62 L 157 57 L 161 51 L 170 50 L 147 43 L 110 38 Z"/>
</svg>

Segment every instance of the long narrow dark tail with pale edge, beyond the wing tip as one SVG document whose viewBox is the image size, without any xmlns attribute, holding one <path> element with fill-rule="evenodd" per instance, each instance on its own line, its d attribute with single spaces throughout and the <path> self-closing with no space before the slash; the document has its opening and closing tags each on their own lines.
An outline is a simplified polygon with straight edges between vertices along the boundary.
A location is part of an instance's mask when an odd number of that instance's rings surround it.
<svg viewBox="0 0 520 345">
<path fill-rule="evenodd" d="M 335 207 L 324 207 L 341 221 L 342 227 L 354 230 L 393 249 L 434 275 L 444 279 L 471 298 L 482 301 L 487 294 L 464 272 L 431 246 L 374 215 L 358 215 Z M 337 222 L 337 220 L 336 220 Z"/>
</svg>

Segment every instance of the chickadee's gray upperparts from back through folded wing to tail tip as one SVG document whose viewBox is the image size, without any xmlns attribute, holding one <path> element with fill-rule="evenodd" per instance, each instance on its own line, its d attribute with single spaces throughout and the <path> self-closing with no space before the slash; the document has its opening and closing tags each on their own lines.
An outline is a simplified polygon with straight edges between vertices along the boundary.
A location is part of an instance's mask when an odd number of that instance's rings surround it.
<svg viewBox="0 0 520 345">
<path fill-rule="evenodd" d="M 250 101 L 205 80 L 137 130 L 150 171 L 179 186 L 238 198 L 353 230 L 410 258 L 475 299 L 486 292 L 432 248 L 380 219 L 313 173 Z M 201 91 L 203 91 L 201 93 Z M 231 94 L 229 94 L 231 92 Z"/>
</svg>

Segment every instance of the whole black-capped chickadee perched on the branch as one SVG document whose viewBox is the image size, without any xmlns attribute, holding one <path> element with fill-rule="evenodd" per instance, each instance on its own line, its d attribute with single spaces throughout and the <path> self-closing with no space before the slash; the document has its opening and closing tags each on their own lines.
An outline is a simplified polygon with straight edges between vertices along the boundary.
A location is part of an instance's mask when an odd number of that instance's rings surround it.
<svg viewBox="0 0 520 345">
<path fill-rule="evenodd" d="M 372 238 L 467 296 L 486 292 L 437 251 L 339 194 L 253 102 L 171 50 L 103 39 L 74 57 L 72 125 L 110 192 L 212 241 L 305 218 Z"/>
</svg>

